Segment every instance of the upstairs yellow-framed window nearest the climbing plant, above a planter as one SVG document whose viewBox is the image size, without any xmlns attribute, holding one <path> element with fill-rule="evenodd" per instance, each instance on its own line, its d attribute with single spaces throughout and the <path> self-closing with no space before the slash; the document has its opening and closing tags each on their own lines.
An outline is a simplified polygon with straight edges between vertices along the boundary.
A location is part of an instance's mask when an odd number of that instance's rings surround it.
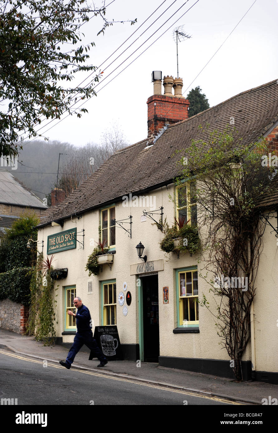
<svg viewBox="0 0 278 433">
<path fill-rule="evenodd" d="M 179 216 L 185 216 L 191 226 L 197 225 L 197 204 L 196 204 L 196 182 L 186 182 L 186 184 L 176 187 L 176 204 L 178 220 Z"/>
</svg>

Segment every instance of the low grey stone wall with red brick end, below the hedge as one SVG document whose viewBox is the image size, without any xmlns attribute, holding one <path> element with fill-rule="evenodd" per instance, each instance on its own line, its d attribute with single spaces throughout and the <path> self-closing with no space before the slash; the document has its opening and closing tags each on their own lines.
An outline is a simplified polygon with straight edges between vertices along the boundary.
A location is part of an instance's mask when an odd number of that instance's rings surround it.
<svg viewBox="0 0 278 433">
<path fill-rule="evenodd" d="M 23 334 L 26 331 L 28 307 L 10 299 L 0 301 L 0 328 Z"/>
</svg>

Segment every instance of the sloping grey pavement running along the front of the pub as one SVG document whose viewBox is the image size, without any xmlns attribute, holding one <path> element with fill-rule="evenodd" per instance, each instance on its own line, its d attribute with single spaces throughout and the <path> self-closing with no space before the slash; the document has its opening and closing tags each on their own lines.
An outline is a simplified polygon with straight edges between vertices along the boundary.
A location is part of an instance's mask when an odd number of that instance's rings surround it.
<svg viewBox="0 0 278 433">
<path fill-rule="evenodd" d="M 0 329 L 0 349 L 13 351 L 29 358 L 59 362 L 65 360 L 68 349 L 63 346 L 43 346 L 33 336 L 23 336 L 12 331 Z M 87 369 L 110 376 L 132 379 L 140 383 L 170 387 L 190 391 L 208 397 L 221 397 L 242 404 L 261 405 L 262 398 L 278 398 L 278 385 L 265 382 L 246 381 L 236 383 L 227 378 L 202 373 L 187 372 L 176 368 L 161 367 L 157 363 L 136 361 L 109 361 L 103 368 L 97 368 L 99 361 L 89 361 L 89 352 L 78 352 L 71 369 Z"/>
</svg>

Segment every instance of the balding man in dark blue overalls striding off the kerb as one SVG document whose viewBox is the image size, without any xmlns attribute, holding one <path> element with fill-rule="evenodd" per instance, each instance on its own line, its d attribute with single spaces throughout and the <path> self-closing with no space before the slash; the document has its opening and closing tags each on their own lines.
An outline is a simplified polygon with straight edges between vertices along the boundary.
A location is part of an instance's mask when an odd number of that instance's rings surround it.
<svg viewBox="0 0 278 433">
<path fill-rule="evenodd" d="M 97 367 L 104 367 L 108 361 L 97 346 L 96 340 L 93 338 L 90 311 L 82 304 L 80 297 L 74 298 L 73 303 L 74 307 L 77 307 L 77 313 L 74 314 L 71 310 L 68 310 L 68 315 L 76 317 L 77 333 L 74 337 L 74 343 L 68 352 L 67 359 L 60 361 L 60 364 L 66 368 L 71 368 L 75 355 L 79 352 L 83 344 L 85 344 L 91 352 L 94 352 L 95 357 L 99 359 L 100 364 L 97 365 Z"/>
</svg>

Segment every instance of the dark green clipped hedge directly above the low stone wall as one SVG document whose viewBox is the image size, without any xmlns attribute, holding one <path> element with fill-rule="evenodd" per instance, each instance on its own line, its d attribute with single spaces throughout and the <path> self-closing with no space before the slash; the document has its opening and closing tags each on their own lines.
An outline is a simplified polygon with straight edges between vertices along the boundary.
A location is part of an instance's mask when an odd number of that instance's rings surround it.
<svg viewBox="0 0 278 433">
<path fill-rule="evenodd" d="M 9 298 L 13 302 L 29 306 L 32 268 L 14 268 L 0 274 L 0 300 Z"/>
</svg>

